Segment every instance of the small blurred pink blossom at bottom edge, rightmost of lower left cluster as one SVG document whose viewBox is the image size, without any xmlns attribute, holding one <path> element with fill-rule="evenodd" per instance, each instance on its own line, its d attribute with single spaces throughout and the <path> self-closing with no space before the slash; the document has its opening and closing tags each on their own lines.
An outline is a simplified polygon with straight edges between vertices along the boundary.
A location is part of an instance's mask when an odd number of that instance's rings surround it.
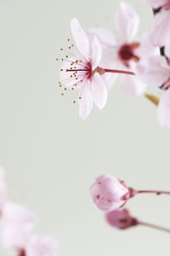
<svg viewBox="0 0 170 256">
<path fill-rule="evenodd" d="M 48 236 L 31 236 L 26 247 L 26 256 L 57 256 L 58 241 Z"/>
</svg>

